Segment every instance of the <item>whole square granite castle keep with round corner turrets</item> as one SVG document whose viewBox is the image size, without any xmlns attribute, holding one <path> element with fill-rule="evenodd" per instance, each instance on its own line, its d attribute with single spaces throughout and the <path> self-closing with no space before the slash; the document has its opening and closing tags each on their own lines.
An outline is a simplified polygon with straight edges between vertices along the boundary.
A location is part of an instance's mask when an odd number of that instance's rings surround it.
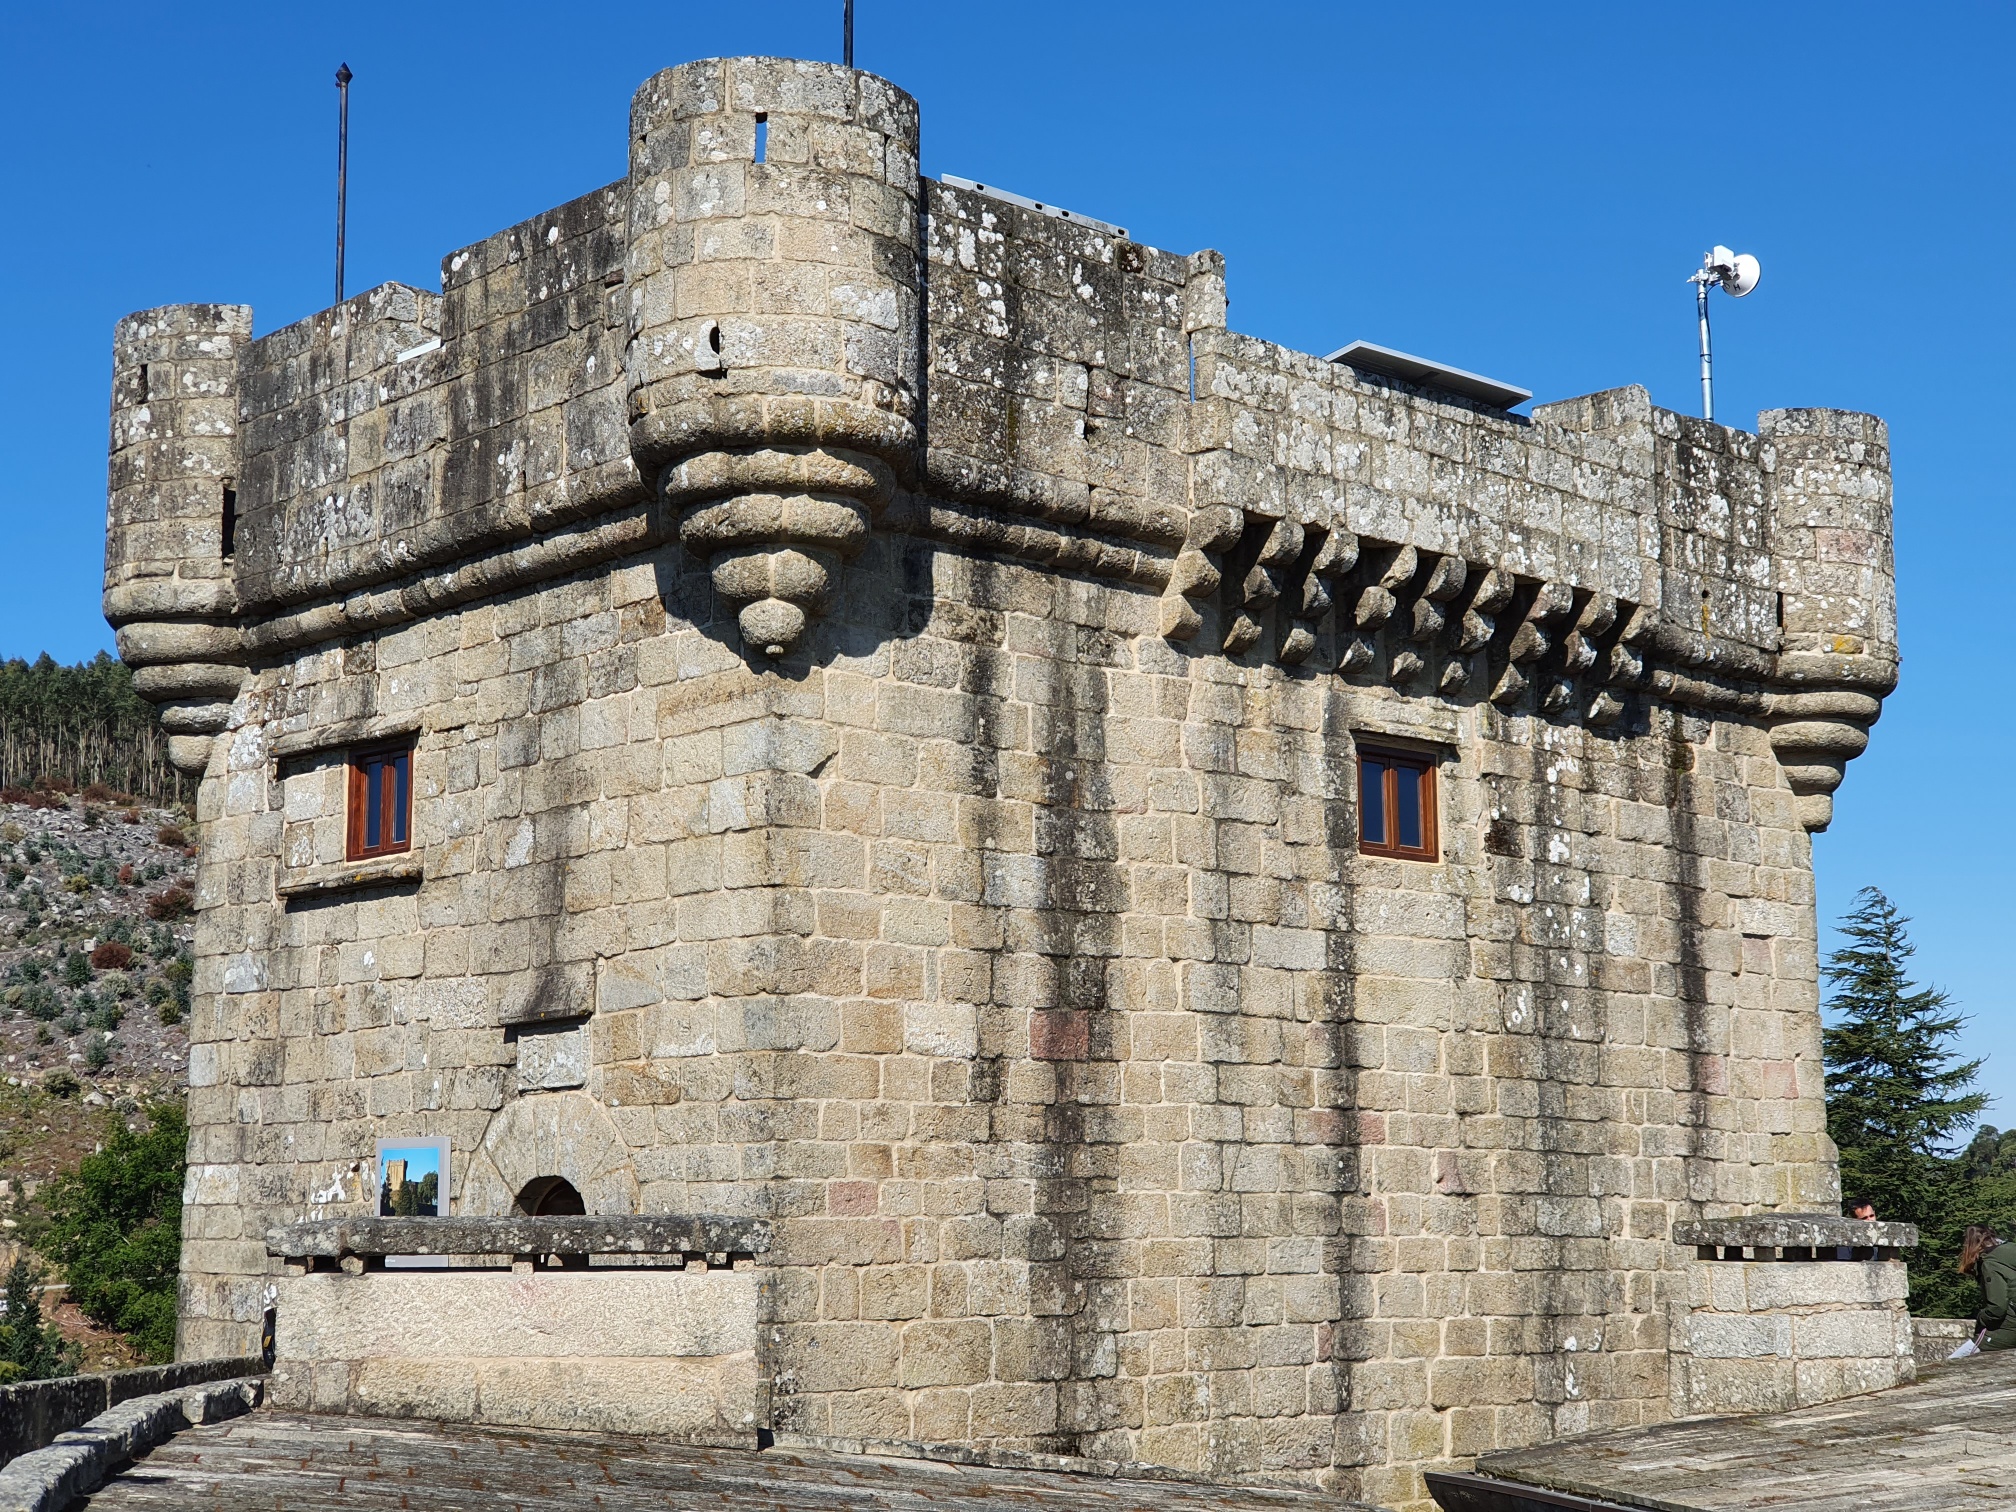
<svg viewBox="0 0 2016 1512">
<path fill-rule="evenodd" d="M 667 1220 L 468 1278 L 617 1288 L 550 1367 L 603 1417 L 1395 1504 L 1699 1407 L 1675 1226 L 1839 1202 L 1877 419 L 1242 337 L 1216 254 L 778 58 L 651 79 L 629 175 L 439 294 L 147 310 L 113 383 L 105 613 L 202 776 L 183 1355 L 278 1296 L 282 1399 L 508 1421 L 446 1292 L 433 1357 L 335 1337 L 439 1272 L 268 1244 L 446 1137 L 454 1220 Z M 1361 849 L 1361 750 L 1425 855 Z"/>
</svg>

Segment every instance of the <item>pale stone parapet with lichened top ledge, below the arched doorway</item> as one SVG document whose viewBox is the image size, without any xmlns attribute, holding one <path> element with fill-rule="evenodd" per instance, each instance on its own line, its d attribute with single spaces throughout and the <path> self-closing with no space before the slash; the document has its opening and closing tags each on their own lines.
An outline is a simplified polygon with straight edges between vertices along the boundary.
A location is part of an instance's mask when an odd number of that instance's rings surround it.
<svg viewBox="0 0 2016 1512">
<path fill-rule="evenodd" d="M 756 1443 L 760 1220 L 337 1218 L 266 1248 L 280 1407 Z"/>
</svg>

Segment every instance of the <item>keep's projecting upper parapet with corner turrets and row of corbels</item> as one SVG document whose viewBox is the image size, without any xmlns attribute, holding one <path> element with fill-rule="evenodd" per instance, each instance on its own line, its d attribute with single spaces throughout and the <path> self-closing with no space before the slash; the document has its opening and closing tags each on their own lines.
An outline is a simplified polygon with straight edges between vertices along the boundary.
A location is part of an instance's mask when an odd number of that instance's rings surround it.
<svg viewBox="0 0 2016 1512">
<path fill-rule="evenodd" d="M 121 327 L 117 456 L 206 437 L 167 548 L 115 462 L 107 615 L 147 689 L 202 696 L 177 728 L 222 728 L 226 601 L 272 653 L 677 538 L 784 655 L 883 528 L 1155 589 L 1163 635 L 1240 659 L 1597 722 L 1782 708 L 1824 827 L 1895 681 L 1881 421 L 1748 435 L 1643 389 L 1522 419 L 1238 337 L 1212 252 L 921 179 L 915 103 L 871 75 L 683 65 L 635 115 L 631 177 L 450 254 L 439 296 Z M 135 387 L 139 333 L 206 319 L 200 395 Z"/>
</svg>

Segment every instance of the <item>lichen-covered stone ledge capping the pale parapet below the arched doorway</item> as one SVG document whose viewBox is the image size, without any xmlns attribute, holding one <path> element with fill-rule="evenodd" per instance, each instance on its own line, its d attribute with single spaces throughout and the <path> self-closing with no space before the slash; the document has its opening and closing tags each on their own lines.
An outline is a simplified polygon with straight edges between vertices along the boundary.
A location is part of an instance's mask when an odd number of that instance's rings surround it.
<svg viewBox="0 0 2016 1512">
<path fill-rule="evenodd" d="M 698 1256 L 728 1264 L 770 1248 L 762 1218 L 714 1214 L 619 1214 L 597 1218 L 325 1218 L 266 1232 L 266 1252 L 284 1260 L 345 1260 L 387 1254 L 488 1256 Z"/>
</svg>

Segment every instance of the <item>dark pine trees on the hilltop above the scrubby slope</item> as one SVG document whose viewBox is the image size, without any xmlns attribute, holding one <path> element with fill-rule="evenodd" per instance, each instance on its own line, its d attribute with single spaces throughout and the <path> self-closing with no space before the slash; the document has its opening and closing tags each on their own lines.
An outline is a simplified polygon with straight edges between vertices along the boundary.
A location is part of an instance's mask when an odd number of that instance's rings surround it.
<svg viewBox="0 0 2016 1512">
<path fill-rule="evenodd" d="M 159 716 L 105 651 L 73 667 L 46 651 L 0 661 L 0 786 L 36 778 L 103 782 L 151 802 L 181 798 Z"/>
</svg>

